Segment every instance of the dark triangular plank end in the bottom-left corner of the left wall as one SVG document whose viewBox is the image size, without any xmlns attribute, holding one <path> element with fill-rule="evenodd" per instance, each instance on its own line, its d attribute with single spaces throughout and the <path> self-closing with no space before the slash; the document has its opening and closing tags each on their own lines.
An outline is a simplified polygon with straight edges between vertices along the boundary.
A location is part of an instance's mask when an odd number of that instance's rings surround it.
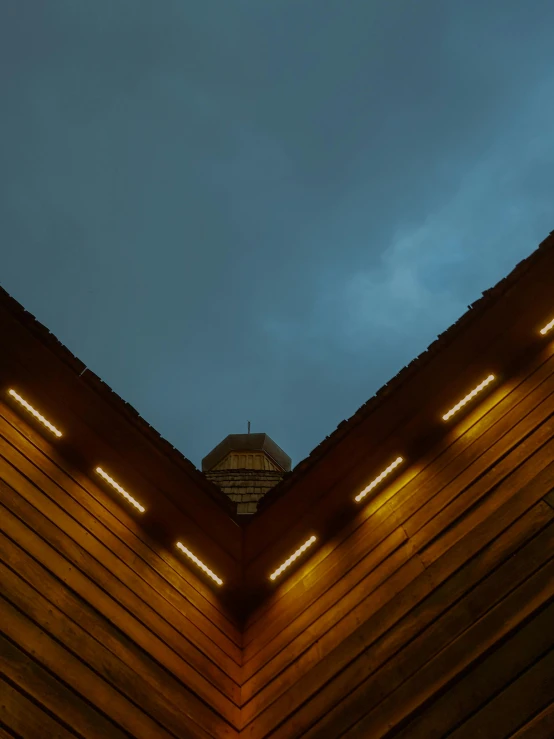
<svg viewBox="0 0 554 739">
<path fill-rule="evenodd" d="M 0 721 L 22 739 L 75 739 L 77 734 L 68 731 L 50 718 L 28 698 L 9 683 L 0 688 Z"/>
</svg>

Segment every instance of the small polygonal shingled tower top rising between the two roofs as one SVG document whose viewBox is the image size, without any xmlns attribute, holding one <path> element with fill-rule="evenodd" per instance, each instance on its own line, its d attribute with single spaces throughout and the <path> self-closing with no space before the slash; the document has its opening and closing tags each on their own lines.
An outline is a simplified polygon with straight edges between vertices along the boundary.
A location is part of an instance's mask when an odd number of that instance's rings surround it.
<svg viewBox="0 0 554 739">
<path fill-rule="evenodd" d="M 202 460 L 202 472 L 237 503 L 237 513 L 255 513 L 290 468 L 288 454 L 267 434 L 229 434 Z"/>
</svg>

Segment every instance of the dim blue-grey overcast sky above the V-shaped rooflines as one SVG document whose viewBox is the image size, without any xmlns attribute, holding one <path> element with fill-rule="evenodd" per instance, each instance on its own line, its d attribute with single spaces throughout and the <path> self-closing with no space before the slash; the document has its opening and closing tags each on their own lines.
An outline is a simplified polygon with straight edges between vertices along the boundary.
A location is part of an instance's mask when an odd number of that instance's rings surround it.
<svg viewBox="0 0 554 739">
<path fill-rule="evenodd" d="M 0 284 L 296 465 L 554 229 L 551 0 L 2 0 Z"/>
</svg>

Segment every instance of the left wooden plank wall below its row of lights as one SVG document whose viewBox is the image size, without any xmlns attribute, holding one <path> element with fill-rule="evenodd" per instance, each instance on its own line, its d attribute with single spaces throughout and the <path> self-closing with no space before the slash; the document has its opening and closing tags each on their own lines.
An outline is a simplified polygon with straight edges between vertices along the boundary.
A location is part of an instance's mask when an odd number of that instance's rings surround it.
<svg viewBox="0 0 554 739">
<path fill-rule="evenodd" d="M 237 736 L 213 588 L 0 403 L 0 737 Z"/>
</svg>

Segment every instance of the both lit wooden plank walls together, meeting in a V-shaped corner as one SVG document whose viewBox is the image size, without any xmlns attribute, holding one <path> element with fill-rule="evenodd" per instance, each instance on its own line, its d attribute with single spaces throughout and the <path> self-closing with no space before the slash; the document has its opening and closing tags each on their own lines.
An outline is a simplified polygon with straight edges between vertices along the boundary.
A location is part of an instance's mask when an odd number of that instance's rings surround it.
<svg viewBox="0 0 554 739">
<path fill-rule="evenodd" d="M 242 634 L 216 590 L 2 404 L 0 739 L 552 739 L 553 490 L 547 342 Z"/>
</svg>

